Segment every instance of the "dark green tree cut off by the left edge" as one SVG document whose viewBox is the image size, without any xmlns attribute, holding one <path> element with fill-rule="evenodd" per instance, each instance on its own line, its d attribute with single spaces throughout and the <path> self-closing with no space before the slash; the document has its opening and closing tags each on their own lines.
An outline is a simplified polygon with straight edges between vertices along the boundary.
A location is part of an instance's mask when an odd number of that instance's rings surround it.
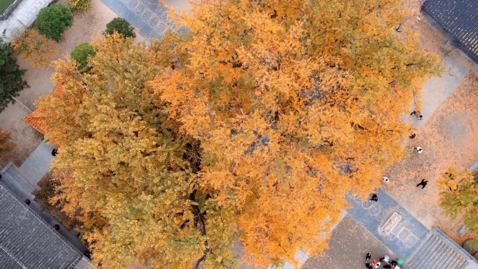
<svg viewBox="0 0 478 269">
<path fill-rule="evenodd" d="M 10 43 L 4 42 L 0 37 L 0 111 L 5 109 L 10 101 L 14 101 L 17 92 L 29 87 L 27 82 L 22 80 L 26 70 L 20 69 L 17 59 L 10 55 L 12 52 Z"/>
</svg>

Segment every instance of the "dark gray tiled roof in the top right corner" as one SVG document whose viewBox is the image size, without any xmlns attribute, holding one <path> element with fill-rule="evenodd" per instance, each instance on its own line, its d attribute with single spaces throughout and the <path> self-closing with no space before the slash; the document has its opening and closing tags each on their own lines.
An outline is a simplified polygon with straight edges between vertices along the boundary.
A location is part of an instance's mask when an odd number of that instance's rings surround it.
<svg viewBox="0 0 478 269">
<path fill-rule="evenodd" d="M 422 8 L 478 56 L 478 0 L 426 0 Z"/>
</svg>

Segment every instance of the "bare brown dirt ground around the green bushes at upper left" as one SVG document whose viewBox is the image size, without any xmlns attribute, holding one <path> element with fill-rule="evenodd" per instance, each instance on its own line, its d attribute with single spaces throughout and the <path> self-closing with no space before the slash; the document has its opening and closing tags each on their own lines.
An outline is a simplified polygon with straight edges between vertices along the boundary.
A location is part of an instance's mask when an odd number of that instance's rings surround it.
<svg viewBox="0 0 478 269">
<path fill-rule="evenodd" d="M 65 0 L 59 1 L 64 3 Z M 57 43 L 57 59 L 70 54 L 76 45 L 92 40 L 92 37 L 101 34 L 106 24 L 117 17 L 113 11 L 101 3 L 100 0 L 92 0 L 92 9 L 87 13 L 73 18 L 73 26 L 63 34 L 63 40 Z M 3 131 L 10 131 L 13 143 L 17 144 L 10 157 L 0 159 L 0 166 L 5 166 L 13 161 L 17 166 L 27 159 L 43 139 L 40 133 L 21 121 L 29 115 L 30 110 L 35 110 L 35 101 L 39 96 L 50 94 L 55 85 L 50 78 L 53 74 L 51 66 L 34 68 L 22 59 L 18 59 L 21 68 L 27 69 L 24 80 L 27 80 L 30 88 L 24 89 L 17 97 L 19 102 L 10 104 L 0 113 L 0 126 Z M 22 105 L 22 104 L 23 105 Z"/>
</svg>

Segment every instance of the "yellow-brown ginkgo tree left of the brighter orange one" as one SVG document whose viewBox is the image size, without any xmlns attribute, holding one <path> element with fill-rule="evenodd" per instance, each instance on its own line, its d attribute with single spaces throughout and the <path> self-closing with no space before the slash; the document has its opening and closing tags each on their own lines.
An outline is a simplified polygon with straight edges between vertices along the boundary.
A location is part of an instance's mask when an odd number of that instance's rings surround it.
<svg viewBox="0 0 478 269">
<path fill-rule="evenodd" d="M 165 65 L 155 44 L 115 33 L 92 42 L 88 73 L 57 61 L 61 89 L 38 101 L 46 136 L 59 145 L 52 202 L 82 222 L 102 268 L 189 269 L 205 253 L 215 268 L 233 266 L 234 211 L 201 191 L 198 141 L 180 133 L 147 85 Z"/>
</svg>

